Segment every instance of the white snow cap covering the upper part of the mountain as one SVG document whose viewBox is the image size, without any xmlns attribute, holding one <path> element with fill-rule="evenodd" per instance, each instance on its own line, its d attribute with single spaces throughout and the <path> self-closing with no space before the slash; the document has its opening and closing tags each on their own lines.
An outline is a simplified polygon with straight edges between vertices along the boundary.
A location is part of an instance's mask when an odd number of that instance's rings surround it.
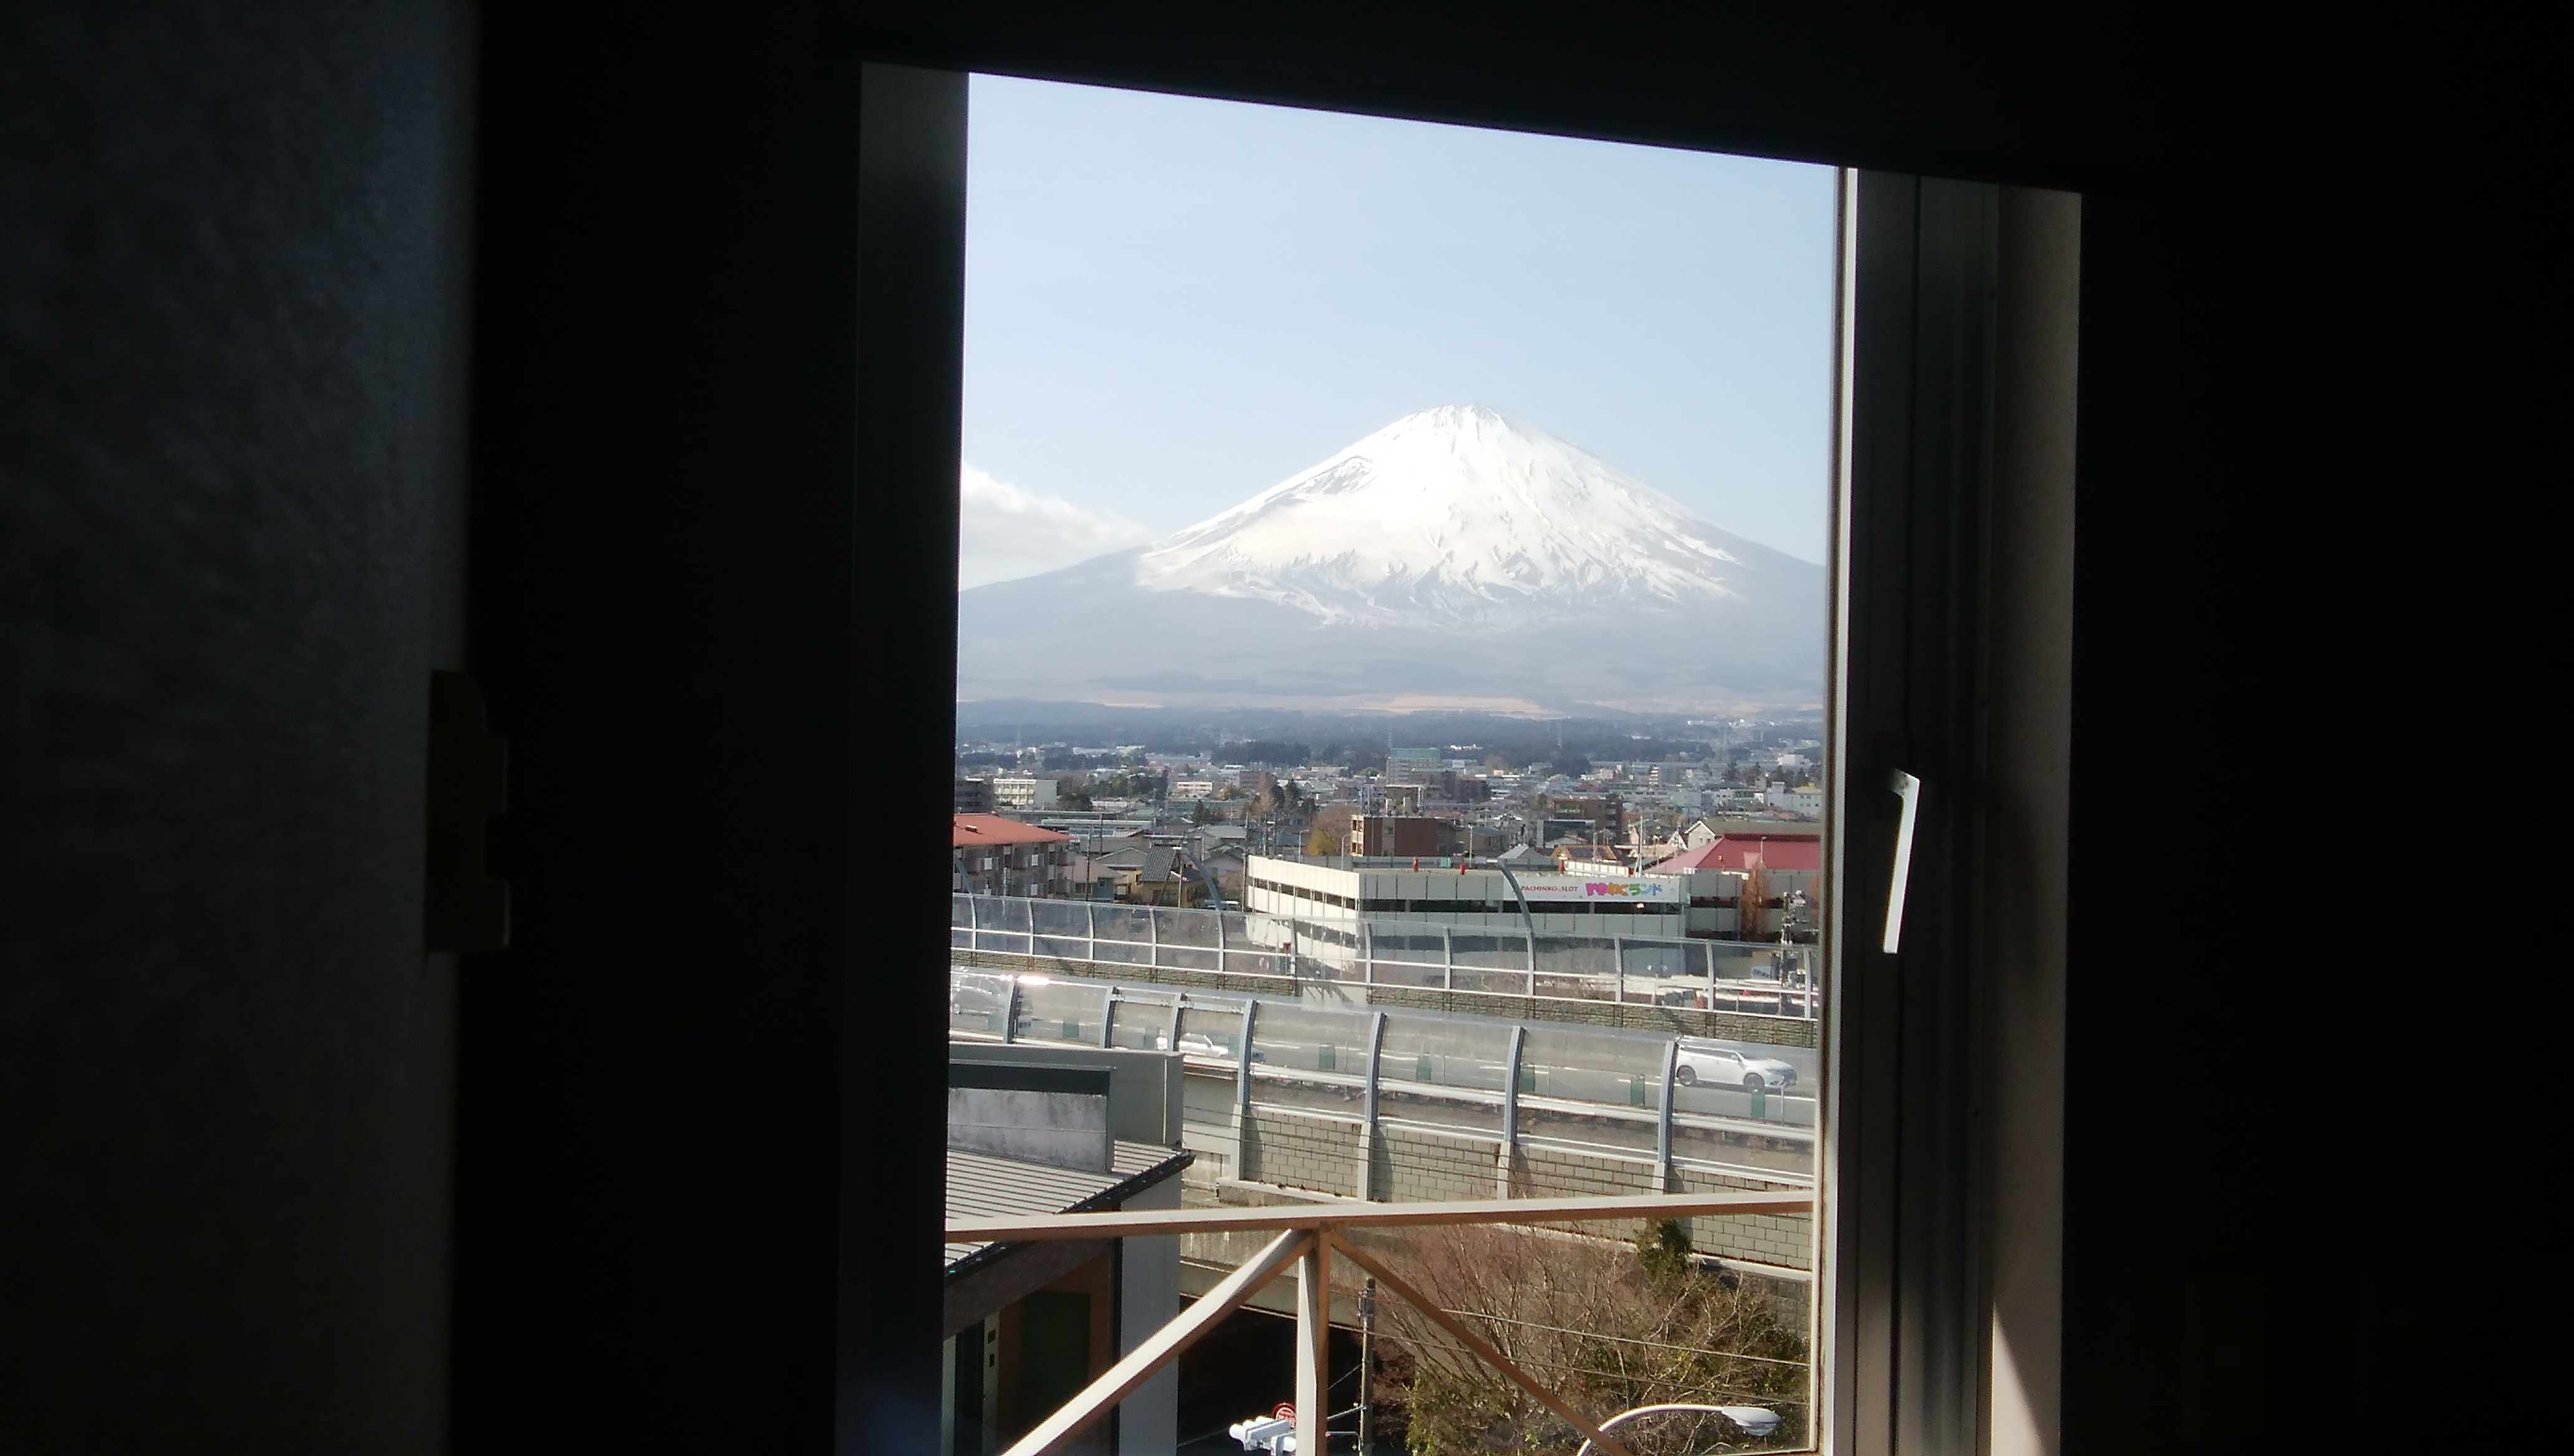
<svg viewBox="0 0 2574 1456">
<path fill-rule="evenodd" d="M 1580 445 L 1447 404 L 1156 540 L 1135 579 L 1323 623 L 1493 628 L 1732 599 L 1745 551 Z"/>
</svg>

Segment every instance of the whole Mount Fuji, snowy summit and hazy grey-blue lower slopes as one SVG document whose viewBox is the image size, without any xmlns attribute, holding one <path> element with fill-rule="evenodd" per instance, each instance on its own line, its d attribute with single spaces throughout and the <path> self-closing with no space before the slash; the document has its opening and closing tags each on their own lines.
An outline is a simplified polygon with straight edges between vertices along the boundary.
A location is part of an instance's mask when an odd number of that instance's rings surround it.
<svg viewBox="0 0 2574 1456">
<path fill-rule="evenodd" d="M 1820 702 L 1822 661 L 1822 566 L 1472 404 L 1151 545 L 958 594 L 963 700 L 1786 707 Z"/>
</svg>

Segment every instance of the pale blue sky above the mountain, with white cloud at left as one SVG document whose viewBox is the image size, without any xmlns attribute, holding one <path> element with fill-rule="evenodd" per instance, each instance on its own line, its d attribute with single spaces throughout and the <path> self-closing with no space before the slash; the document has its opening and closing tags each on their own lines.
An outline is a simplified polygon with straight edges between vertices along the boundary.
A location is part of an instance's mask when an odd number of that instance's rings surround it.
<svg viewBox="0 0 2574 1456">
<path fill-rule="evenodd" d="M 973 77 L 965 584 L 1488 404 L 1822 561 L 1833 172 Z"/>
</svg>

